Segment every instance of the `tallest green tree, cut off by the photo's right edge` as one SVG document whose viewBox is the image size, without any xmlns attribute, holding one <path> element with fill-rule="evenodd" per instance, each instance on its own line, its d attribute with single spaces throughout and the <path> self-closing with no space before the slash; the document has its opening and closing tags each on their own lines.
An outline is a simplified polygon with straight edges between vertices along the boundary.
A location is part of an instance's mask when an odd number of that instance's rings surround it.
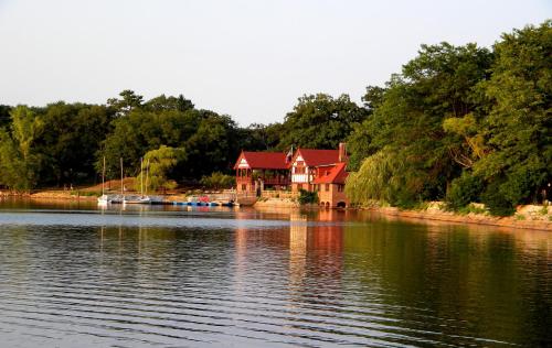
<svg viewBox="0 0 552 348">
<path fill-rule="evenodd" d="M 481 83 L 487 151 L 474 172 L 514 206 L 537 199 L 552 177 L 552 21 L 503 34 L 493 48 L 492 77 Z"/>
</svg>

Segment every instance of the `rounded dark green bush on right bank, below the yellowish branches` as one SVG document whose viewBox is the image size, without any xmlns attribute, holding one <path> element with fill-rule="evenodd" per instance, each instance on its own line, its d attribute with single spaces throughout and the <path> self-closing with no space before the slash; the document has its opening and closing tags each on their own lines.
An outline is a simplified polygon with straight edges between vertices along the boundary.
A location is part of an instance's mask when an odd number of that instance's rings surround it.
<svg viewBox="0 0 552 348">
<path fill-rule="evenodd" d="M 464 172 L 460 177 L 455 178 L 450 184 L 445 198 L 446 208 L 458 211 L 470 203 L 478 202 L 482 188 L 484 183 L 480 177 Z"/>
</svg>

